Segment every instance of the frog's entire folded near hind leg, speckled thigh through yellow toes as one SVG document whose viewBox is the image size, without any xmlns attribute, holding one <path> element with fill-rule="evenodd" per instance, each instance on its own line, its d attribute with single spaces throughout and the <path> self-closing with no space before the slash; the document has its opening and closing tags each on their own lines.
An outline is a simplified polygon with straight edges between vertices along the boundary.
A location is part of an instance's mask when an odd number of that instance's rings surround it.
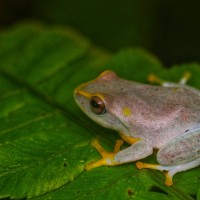
<svg viewBox="0 0 200 200">
<path fill-rule="evenodd" d="M 200 128 L 179 135 L 162 147 L 157 154 L 161 165 L 137 162 L 139 169 L 149 168 L 165 171 L 165 184 L 173 184 L 173 176 L 200 165 Z"/>
</svg>

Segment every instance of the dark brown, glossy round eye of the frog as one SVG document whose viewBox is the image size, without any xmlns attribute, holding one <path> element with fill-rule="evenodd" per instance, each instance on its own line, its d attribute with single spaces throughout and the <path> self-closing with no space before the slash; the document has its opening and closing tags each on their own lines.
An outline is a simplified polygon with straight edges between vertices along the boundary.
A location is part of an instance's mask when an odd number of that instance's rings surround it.
<svg viewBox="0 0 200 200">
<path fill-rule="evenodd" d="M 97 96 L 93 96 L 90 101 L 90 108 L 93 113 L 97 115 L 102 115 L 106 112 L 104 101 Z"/>
</svg>

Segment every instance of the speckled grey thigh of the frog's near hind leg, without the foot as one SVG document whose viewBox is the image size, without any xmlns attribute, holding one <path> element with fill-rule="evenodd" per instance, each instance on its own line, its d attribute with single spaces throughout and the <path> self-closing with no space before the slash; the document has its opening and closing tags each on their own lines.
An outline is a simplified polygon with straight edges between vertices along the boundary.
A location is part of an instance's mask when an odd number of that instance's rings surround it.
<svg viewBox="0 0 200 200">
<path fill-rule="evenodd" d="M 157 153 L 157 161 L 163 166 L 189 163 L 200 157 L 200 128 L 189 130 L 163 146 Z"/>
</svg>

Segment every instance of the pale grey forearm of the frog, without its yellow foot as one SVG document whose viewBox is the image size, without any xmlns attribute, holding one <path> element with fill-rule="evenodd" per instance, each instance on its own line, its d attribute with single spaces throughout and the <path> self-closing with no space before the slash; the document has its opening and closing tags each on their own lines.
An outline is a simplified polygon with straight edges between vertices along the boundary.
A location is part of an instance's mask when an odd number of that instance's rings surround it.
<svg viewBox="0 0 200 200">
<path fill-rule="evenodd" d="M 140 140 L 132 144 L 130 147 L 118 152 L 115 155 L 114 160 L 119 163 L 127 163 L 146 158 L 152 153 L 152 146 L 149 145 L 146 141 Z"/>
</svg>

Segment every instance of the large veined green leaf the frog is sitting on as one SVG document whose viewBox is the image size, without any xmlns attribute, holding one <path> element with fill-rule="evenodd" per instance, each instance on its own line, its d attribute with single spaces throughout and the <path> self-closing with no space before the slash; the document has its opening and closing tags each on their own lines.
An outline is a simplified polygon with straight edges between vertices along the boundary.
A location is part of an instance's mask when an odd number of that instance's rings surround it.
<svg viewBox="0 0 200 200">
<path fill-rule="evenodd" d="M 142 49 L 111 57 L 73 30 L 31 23 L 1 32 L 0 58 L 0 198 L 199 198 L 199 168 L 177 174 L 172 187 L 162 173 L 134 163 L 86 172 L 85 164 L 100 158 L 91 140 L 99 137 L 112 150 L 118 135 L 73 99 L 75 87 L 105 69 L 139 82 L 150 73 L 177 81 L 189 70 L 189 84 L 200 88 L 198 64 L 165 70 Z M 155 163 L 155 155 L 146 161 Z"/>
</svg>

